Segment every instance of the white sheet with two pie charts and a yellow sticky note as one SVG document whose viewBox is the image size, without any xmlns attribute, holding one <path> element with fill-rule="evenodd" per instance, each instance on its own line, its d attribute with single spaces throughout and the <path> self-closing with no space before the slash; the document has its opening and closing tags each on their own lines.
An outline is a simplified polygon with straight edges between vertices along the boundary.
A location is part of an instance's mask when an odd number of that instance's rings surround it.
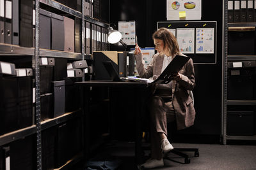
<svg viewBox="0 0 256 170">
<path fill-rule="evenodd" d="M 166 0 L 167 20 L 200 20 L 202 0 Z"/>
</svg>

